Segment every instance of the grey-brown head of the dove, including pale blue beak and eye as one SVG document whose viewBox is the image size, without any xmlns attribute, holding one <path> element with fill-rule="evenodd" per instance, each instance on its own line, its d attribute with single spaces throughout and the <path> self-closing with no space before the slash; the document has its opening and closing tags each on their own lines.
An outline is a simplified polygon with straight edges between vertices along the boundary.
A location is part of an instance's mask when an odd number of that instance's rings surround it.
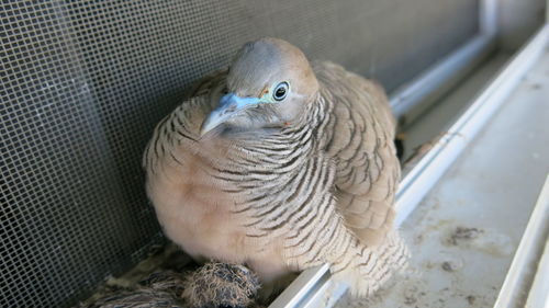
<svg viewBox="0 0 549 308">
<path fill-rule="evenodd" d="M 261 38 L 238 52 L 226 90 L 202 124 L 202 135 L 220 126 L 254 130 L 292 125 L 317 93 L 318 81 L 298 47 Z"/>
</svg>

